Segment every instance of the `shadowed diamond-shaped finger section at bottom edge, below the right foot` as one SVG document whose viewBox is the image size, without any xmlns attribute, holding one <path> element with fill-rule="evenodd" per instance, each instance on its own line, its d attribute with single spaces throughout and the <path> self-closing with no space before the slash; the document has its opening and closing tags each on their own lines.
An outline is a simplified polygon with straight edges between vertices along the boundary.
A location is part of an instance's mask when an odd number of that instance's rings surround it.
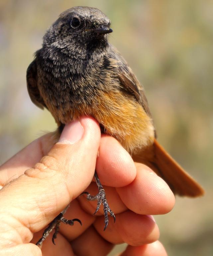
<svg viewBox="0 0 213 256">
<path fill-rule="evenodd" d="M 71 242 L 76 255 L 105 256 L 112 250 L 113 245 L 104 240 L 91 226 L 81 236 Z"/>
</svg>

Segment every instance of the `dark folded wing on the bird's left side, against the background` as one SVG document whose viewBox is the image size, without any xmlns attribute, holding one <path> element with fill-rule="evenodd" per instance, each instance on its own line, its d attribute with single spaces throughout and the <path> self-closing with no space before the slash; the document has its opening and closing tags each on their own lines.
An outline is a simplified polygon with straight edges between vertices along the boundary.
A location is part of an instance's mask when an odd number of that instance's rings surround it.
<svg viewBox="0 0 213 256">
<path fill-rule="evenodd" d="M 41 109 L 46 107 L 46 104 L 40 94 L 37 84 L 37 64 L 36 59 L 32 61 L 27 69 L 27 90 L 32 102 Z"/>
</svg>

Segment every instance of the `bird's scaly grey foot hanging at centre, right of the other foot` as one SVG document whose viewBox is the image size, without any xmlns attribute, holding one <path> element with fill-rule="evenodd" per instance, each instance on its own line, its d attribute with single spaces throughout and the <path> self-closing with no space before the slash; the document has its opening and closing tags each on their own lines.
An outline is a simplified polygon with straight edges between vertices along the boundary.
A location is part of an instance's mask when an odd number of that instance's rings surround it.
<svg viewBox="0 0 213 256">
<path fill-rule="evenodd" d="M 96 214 L 96 212 L 99 210 L 99 208 L 101 206 L 101 203 L 103 204 L 103 207 L 104 207 L 104 223 L 105 223 L 104 230 L 105 230 L 107 225 L 108 225 L 108 222 L 109 222 L 108 212 L 114 218 L 114 222 L 115 222 L 115 214 L 113 213 L 113 211 L 110 209 L 110 207 L 108 205 L 108 202 L 106 200 L 105 190 L 104 190 L 103 186 L 101 185 L 101 182 L 98 178 L 98 175 L 97 175 L 96 171 L 95 171 L 95 174 L 94 174 L 94 178 L 95 178 L 95 182 L 98 186 L 98 194 L 96 196 L 91 196 L 88 192 L 83 192 L 82 194 L 86 194 L 87 195 L 86 199 L 89 200 L 89 201 L 94 201 L 94 200 L 98 201 L 94 214 Z"/>
</svg>

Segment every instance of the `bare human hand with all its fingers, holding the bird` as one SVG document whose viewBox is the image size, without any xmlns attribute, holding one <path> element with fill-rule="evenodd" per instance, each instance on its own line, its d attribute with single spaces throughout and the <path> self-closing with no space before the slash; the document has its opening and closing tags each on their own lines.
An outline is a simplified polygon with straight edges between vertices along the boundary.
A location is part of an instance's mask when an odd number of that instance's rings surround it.
<svg viewBox="0 0 213 256">
<path fill-rule="evenodd" d="M 96 202 L 79 197 L 84 190 L 96 194 L 95 168 L 116 214 L 105 231 L 103 211 L 94 216 Z M 122 256 L 167 255 L 150 215 L 169 212 L 173 193 L 151 169 L 134 163 L 115 138 L 101 135 L 93 118 L 66 125 L 54 146 L 51 134 L 33 141 L 0 167 L 0 182 L 0 255 L 101 256 L 124 242 Z M 36 246 L 70 201 L 65 218 L 78 218 L 82 226 L 61 224 L 56 245 L 51 233 L 42 248 Z"/>
</svg>

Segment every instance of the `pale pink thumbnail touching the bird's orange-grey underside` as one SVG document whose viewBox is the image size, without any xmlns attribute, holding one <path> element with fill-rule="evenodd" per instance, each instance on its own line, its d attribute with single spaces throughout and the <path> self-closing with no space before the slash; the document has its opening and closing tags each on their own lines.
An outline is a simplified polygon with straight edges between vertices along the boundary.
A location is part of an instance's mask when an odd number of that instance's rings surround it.
<svg viewBox="0 0 213 256">
<path fill-rule="evenodd" d="M 74 144 L 79 141 L 84 133 L 84 129 L 79 121 L 71 122 L 64 126 L 59 143 Z"/>
</svg>

